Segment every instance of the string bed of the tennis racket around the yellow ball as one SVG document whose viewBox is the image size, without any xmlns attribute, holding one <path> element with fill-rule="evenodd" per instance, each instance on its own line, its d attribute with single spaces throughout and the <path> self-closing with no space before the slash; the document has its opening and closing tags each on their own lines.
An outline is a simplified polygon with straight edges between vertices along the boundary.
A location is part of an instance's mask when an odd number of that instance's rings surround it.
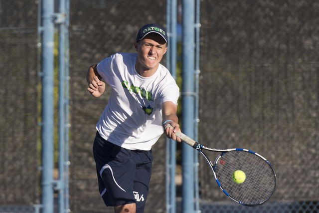
<svg viewBox="0 0 319 213">
<path fill-rule="evenodd" d="M 232 180 L 232 174 L 236 170 L 246 174 L 244 183 L 236 184 Z M 222 154 L 215 162 L 215 173 L 224 191 L 234 200 L 246 205 L 258 205 L 267 201 L 276 187 L 275 174 L 269 163 L 245 151 Z"/>
</svg>

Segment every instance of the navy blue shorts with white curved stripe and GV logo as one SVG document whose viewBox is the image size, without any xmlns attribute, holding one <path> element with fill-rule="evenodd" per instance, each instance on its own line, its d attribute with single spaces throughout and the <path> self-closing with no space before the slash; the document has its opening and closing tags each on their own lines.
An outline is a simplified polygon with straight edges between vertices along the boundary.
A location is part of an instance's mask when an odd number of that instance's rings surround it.
<svg viewBox="0 0 319 213">
<path fill-rule="evenodd" d="M 108 142 L 97 132 L 93 155 L 105 205 L 135 203 L 136 212 L 143 213 L 152 174 L 152 150 L 128 150 Z"/>
</svg>

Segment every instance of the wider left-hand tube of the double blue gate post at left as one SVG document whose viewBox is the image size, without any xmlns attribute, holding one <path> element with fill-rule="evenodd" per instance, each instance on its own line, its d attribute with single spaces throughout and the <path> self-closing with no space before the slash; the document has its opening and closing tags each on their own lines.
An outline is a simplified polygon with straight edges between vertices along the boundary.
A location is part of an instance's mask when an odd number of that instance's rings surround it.
<svg viewBox="0 0 319 213">
<path fill-rule="evenodd" d="M 59 0 L 59 13 L 65 16 L 65 0 Z M 64 204 L 64 166 L 65 166 L 65 21 L 59 25 L 59 213 Z"/>
</svg>

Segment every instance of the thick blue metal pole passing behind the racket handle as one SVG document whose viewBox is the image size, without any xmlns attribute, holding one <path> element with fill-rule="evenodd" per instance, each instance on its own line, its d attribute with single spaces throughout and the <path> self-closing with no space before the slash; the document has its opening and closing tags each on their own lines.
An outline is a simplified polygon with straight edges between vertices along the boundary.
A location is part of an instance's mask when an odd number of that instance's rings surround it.
<svg viewBox="0 0 319 213">
<path fill-rule="evenodd" d="M 183 132 L 194 138 L 194 40 L 195 40 L 195 2 L 182 0 L 182 95 L 183 95 Z M 194 212 L 194 149 L 182 143 L 182 211 Z"/>
</svg>

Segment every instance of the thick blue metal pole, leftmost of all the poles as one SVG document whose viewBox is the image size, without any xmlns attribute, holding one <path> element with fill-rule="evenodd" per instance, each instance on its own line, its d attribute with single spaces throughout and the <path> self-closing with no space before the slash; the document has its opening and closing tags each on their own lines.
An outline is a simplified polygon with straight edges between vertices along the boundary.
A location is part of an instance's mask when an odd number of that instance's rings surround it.
<svg viewBox="0 0 319 213">
<path fill-rule="evenodd" d="M 42 1 L 42 204 L 53 213 L 54 0 Z"/>
</svg>

